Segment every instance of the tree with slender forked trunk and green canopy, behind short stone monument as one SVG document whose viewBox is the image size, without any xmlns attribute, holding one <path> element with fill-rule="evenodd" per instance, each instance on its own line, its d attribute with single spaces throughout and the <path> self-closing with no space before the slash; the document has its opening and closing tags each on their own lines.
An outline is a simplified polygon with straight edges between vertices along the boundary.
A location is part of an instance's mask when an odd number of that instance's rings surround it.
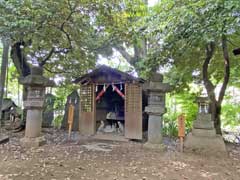
<svg viewBox="0 0 240 180">
<path fill-rule="evenodd" d="M 174 68 L 178 74 L 175 78 L 182 85 L 201 77 L 219 134 L 221 105 L 230 79 L 230 59 L 233 58 L 231 48 L 240 42 L 239 14 L 238 1 L 163 0 L 145 25 L 145 34 L 155 37 L 158 48 L 149 50 L 149 58 L 144 64 L 150 71 L 160 64 Z M 232 65 L 235 64 L 232 61 Z M 219 83 L 222 85 L 216 94 Z"/>
</svg>

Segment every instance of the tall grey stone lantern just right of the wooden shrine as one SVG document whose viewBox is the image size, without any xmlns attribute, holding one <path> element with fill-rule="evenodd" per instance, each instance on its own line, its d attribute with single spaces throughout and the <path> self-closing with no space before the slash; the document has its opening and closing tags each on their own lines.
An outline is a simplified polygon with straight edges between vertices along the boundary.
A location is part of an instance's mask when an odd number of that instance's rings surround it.
<svg viewBox="0 0 240 180">
<path fill-rule="evenodd" d="M 166 112 L 165 94 L 172 88 L 169 84 L 163 83 L 161 74 L 153 74 L 150 81 L 145 85 L 148 91 L 148 106 L 145 112 L 148 117 L 148 141 L 145 147 L 164 149 L 162 144 L 162 119 Z"/>
</svg>

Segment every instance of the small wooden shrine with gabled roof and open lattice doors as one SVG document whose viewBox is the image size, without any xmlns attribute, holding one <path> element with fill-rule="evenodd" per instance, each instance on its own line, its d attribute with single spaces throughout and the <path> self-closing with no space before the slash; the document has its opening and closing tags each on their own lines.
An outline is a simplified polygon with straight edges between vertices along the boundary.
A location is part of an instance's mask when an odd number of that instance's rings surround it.
<svg viewBox="0 0 240 180">
<path fill-rule="evenodd" d="M 143 79 L 102 65 L 75 80 L 80 84 L 79 131 L 142 139 Z"/>
</svg>

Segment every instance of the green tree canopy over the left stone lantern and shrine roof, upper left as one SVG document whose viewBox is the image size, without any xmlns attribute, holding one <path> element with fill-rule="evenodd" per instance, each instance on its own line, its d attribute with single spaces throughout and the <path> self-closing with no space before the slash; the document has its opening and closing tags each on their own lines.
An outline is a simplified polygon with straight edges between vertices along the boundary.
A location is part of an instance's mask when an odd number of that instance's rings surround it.
<svg viewBox="0 0 240 180">
<path fill-rule="evenodd" d="M 48 76 L 70 83 L 94 68 L 99 54 L 138 37 L 132 22 L 146 12 L 142 0 L 0 1 L 0 36 L 25 42 L 31 64 L 46 63 Z"/>
</svg>

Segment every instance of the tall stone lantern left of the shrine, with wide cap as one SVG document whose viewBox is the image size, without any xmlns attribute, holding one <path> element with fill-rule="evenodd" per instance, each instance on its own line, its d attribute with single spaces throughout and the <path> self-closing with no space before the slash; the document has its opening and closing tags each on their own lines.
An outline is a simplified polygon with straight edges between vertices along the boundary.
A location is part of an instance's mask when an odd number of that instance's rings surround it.
<svg viewBox="0 0 240 180">
<path fill-rule="evenodd" d="M 45 143 L 41 137 L 42 111 L 45 88 L 54 86 L 54 82 L 43 76 L 41 67 L 33 66 L 31 74 L 20 78 L 20 83 L 27 87 L 27 100 L 23 102 L 27 110 L 25 137 L 21 139 L 24 146 L 37 147 Z"/>
</svg>

